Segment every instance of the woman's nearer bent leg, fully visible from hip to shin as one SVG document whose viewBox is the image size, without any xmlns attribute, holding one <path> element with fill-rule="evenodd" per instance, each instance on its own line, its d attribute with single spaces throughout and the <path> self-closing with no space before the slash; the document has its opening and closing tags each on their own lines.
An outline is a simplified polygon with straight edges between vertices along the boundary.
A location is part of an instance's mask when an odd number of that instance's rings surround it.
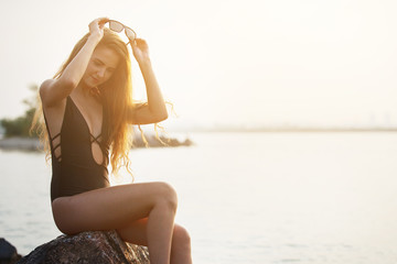
<svg viewBox="0 0 397 264">
<path fill-rule="evenodd" d="M 53 201 L 58 229 L 67 234 L 111 230 L 147 221 L 150 262 L 170 263 L 176 194 L 164 183 L 129 184 L 90 190 Z"/>
</svg>

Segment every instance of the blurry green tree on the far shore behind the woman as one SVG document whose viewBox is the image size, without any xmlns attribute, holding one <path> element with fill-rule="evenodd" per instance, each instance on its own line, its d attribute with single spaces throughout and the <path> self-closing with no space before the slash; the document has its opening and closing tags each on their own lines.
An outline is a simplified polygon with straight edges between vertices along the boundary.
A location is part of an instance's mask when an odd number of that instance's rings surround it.
<svg viewBox="0 0 397 264">
<path fill-rule="evenodd" d="M 1 125 L 4 129 L 6 136 L 24 136 L 24 138 L 37 138 L 35 133 L 30 134 L 29 129 L 32 124 L 32 120 L 34 117 L 34 112 L 36 109 L 36 91 L 37 86 L 31 85 L 29 87 L 31 91 L 34 92 L 29 99 L 23 100 L 23 103 L 28 106 L 28 110 L 25 111 L 24 116 L 18 117 L 15 119 L 1 119 Z"/>
</svg>

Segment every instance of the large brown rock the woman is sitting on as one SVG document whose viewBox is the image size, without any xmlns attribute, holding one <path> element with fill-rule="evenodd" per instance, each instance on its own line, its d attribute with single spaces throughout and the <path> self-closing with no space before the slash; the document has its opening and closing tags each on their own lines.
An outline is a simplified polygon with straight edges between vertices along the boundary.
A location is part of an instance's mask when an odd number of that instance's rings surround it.
<svg viewBox="0 0 397 264">
<path fill-rule="evenodd" d="M 124 242 L 115 230 L 60 235 L 37 246 L 18 264 L 133 263 L 149 264 L 146 246 Z"/>
</svg>

